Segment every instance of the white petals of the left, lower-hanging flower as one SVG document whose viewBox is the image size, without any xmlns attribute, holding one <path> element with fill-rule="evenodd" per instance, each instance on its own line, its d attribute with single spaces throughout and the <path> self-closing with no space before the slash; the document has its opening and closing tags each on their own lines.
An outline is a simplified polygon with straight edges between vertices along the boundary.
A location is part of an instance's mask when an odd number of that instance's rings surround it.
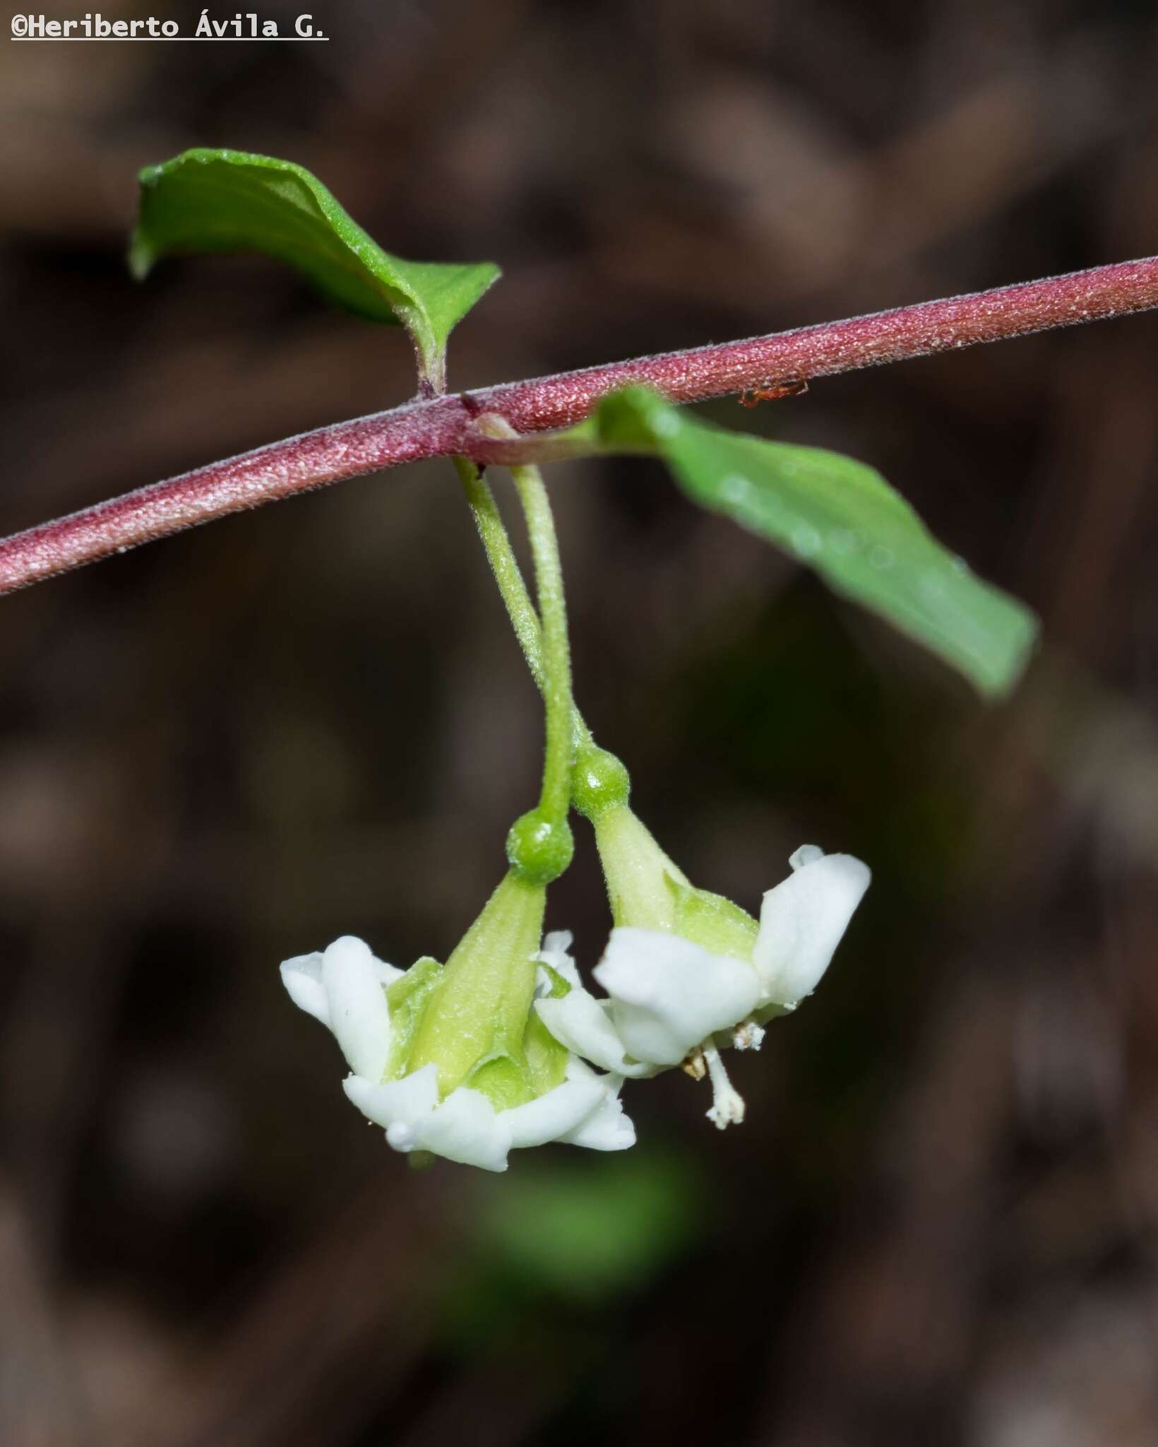
<svg viewBox="0 0 1158 1447">
<path fill-rule="evenodd" d="M 395 1150 L 429 1150 L 486 1171 L 506 1171 L 509 1150 L 548 1140 L 591 1150 L 623 1150 L 635 1143 L 635 1127 L 617 1098 L 622 1078 L 597 1075 L 575 1058 L 567 1062 L 562 1084 L 506 1110 L 496 1110 L 481 1091 L 466 1085 L 439 1101 L 434 1062 L 399 1079 L 383 1079 L 392 1043 L 386 985 L 402 974 L 350 935 L 324 952 L 282 965 L 289 997 L 333 1030 L 346 1055 L 353 1071 L 343 1082 L 347 1097 L 385 1129 Z M 549 984 L 545 978 L 544 987 Z"/>
</svg>

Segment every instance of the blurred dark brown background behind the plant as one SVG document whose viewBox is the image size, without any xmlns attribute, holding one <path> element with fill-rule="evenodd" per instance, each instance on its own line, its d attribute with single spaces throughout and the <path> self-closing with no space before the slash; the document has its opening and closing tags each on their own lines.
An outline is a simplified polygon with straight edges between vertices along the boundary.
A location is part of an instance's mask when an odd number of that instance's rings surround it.
<svg viewBox="0 0 1158 1447">
<path fill-rule="evenodd" d="M 315 20 L 4 39 L 0 531 L 412 391 L 400 334 L 273 263 L 130 284 L 134 172 L 189 145 L 308 165 L 402 255 L 500 260 L 457 385 L 1158 250 L 1145 0 Z M 749 907 L 802 841 L 875 870 L 724 1136 L 669 1075 L 627 1085 L 626 1155 L 412 1172 L 280 990 L 341 932 L 445 958 L 533 797 L 450 466 L 0 602 L 0 1440 L 1154 1441 L 1157 343 L 1126 318 L 708 410 L 872 462 L 1042 612 L 998 709 L 649 464 L 558 469 L 578 695 L 672 855 Z M 549 925 L 590 967 L 580 839 Z"/>
</svg>

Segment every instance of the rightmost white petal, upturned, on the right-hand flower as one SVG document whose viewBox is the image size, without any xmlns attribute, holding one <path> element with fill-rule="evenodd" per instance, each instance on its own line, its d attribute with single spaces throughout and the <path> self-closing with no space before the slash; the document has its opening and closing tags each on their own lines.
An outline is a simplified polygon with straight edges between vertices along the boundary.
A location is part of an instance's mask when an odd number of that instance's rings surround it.
<svg viewBox="0 0 1158 1447">
<path fill-rule="evenodd" d="M 825 854 L 765 894 L 752 952 L 760 1003 L 791 1006 L 815 990 L 870 878 L 850 854 Z"/>
</svg>

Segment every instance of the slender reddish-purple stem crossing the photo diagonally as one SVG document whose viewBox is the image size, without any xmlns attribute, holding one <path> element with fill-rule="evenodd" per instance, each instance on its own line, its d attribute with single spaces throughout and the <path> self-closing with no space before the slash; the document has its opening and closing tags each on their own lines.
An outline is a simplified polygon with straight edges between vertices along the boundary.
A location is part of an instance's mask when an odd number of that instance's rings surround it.
<svg viewBox="0 0 1158 1447">
<path fill-rule="evenodd" d="M 480 412 L 499 412 L 519 433 L 542 433 L 581 421 L 601 396 L 632 382 L 653 386 L 672 402 L 697 402 L 768 381 L 850 372 L 1151 307 L 1158 307 L 1155 256 L 747 341 L 415 401 L 270 443 L 16 532 L 0 541 L 0 593 L 227 512 L 403 462 L 454 453 L 480 463 L 539 462 L 558 454 L 551 438 L 503 443 L 483 436 L 474 425 Z"/>
</svg>

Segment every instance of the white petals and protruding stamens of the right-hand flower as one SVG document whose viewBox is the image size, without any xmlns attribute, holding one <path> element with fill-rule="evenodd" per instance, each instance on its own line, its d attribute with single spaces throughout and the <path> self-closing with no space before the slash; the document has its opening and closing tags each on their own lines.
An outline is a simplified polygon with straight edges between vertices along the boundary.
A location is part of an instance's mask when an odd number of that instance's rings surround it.
<svg viewBox="0 0 1158 1447">
<path fill-rule="evenodd" d="M 720 1127 L 743 1120 L 717 1046 L 759 1049 L 760 1019 L 794 1010 L 812 993 L 870 880 L 860 860 L 814 845 L 789 862 L 794 873 L 763 897 L 750 962 L 671 930 L 620 925 L 594 969 L 607 998 L 575 978 L 564 998 L 536 1001 L 544 1024 L 616 1075 L 653 1075 L 688 1061 L 692 1074 L 711 1077 L 710 1119 Z"/>
</svg>

